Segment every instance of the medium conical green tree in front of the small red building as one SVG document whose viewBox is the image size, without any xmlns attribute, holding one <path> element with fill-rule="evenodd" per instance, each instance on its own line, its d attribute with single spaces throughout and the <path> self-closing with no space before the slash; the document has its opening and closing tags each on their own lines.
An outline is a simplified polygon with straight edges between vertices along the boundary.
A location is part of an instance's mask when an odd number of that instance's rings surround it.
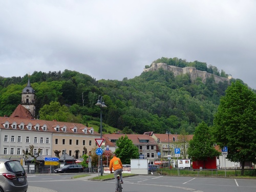
<svg viewBox="0 0 256 192">
<path fill-rule="evenodd" d="M 196 127 L 194 137 L 189 141 L 187 154 L 193 161 L 204 161 L 204 167 L 208 157 L 212 158 L 220 155 L 214 148 L 212 134 L 204 121 Z"/>
</svg>

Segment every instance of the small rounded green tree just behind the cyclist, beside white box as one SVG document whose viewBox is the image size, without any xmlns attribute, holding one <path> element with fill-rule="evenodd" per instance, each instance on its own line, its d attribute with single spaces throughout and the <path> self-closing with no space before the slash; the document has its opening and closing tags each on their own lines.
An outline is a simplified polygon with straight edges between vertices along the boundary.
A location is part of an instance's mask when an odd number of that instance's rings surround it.
<svg viewBox="0 0 256 192">
<path fill-rule="evenodd" d="M 131 164 L 130 159 L 138 159 L 139 158 L 139 150 L 138 147 L 133 144 L 133 141 L 125 135 L 124 137 L 120 137 L 116 141 L 116 149 L 115 153 L 117 157 L 119 157 L 123 164 Z"/>
</svg>

